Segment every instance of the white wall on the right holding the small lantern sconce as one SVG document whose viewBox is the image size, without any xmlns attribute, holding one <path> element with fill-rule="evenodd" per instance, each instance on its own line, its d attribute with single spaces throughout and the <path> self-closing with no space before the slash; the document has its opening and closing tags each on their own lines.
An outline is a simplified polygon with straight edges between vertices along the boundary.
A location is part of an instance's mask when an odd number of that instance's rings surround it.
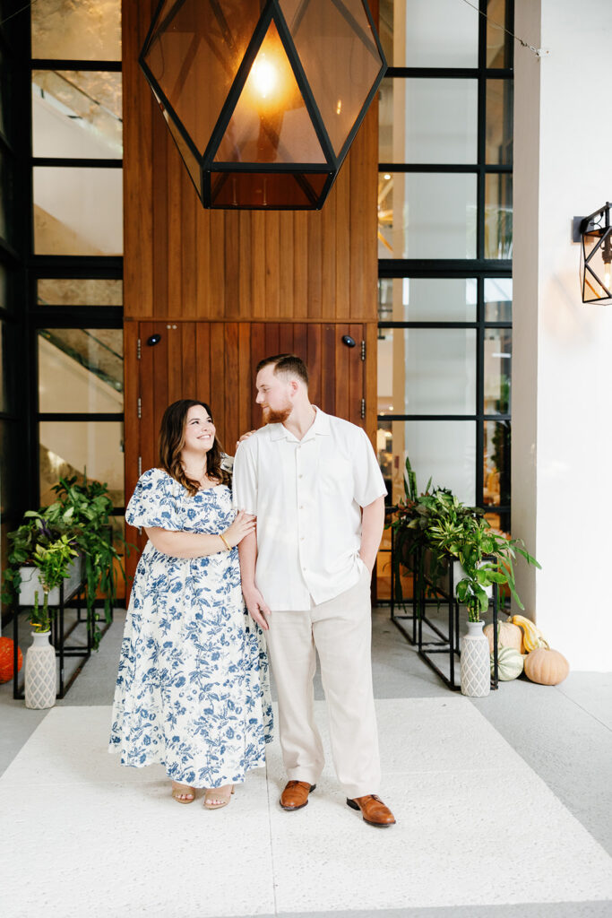
<svg viewBox="0 0 612 918">
<path fill-rule="evenodd" d="M 517 0 L 513 534 L 519 592 L 573 669 L 612 670 L 612 305 L 583 305 L 571 219 L 612 199 L 610 0 Z"/>
</svg>

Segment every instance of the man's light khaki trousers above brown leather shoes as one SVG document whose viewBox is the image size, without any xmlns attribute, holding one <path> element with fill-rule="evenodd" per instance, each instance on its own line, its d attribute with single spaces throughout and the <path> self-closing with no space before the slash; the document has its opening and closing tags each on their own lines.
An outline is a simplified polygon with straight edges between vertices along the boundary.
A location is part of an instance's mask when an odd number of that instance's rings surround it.
<svg viewBox="0 0 612 918">
<path fill-rule="evenodd" d="M 312 601 L 312 600 L 311 600 Z M 325 762 L 313 716 L 318 653 L 331 751 L 347 797 L 378 793 L 381 772 L 372 685 L 370 575 L 307 611 L 277 611 L 266 632 L 278 689 L 279 733 L 289 780 L 315 784 Z"/>
</svg>

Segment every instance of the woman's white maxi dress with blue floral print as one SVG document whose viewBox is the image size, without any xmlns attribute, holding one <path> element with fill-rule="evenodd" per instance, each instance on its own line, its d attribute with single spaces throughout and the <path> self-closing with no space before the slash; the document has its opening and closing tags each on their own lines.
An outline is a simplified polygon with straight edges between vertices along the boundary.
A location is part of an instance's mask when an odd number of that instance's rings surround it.
<svg viewBox="0 0 612 918">
<path fill-rule="evenodd" d="M 131 526 L 223 532 L 234 519 L 225 485 L 191 497 L 150 469 L 126 510 Z M 272 739 L 268 662 L 242 601 L 238 549 L 201 558 L 148 542 L 134 577 L 121 647 L 110 752 L 121 764 L 159 763 L 195 788 L 244 781 Z"/>
</svg>

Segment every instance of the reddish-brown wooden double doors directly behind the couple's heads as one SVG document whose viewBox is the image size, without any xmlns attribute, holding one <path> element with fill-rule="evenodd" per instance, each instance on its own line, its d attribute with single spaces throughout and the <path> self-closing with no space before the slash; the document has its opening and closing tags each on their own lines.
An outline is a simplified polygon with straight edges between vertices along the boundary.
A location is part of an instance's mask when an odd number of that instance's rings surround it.
<svg viewBox="0 0 612 918">
<path fill-rule="evenodd" d="M 217 438 L 231 455 L 240 434 L 261 427 L 255 368 L 271 354 L 301 357 L 311 402 L 364 426 L 364 341 L 365 326 L 350 322 L 126 323 L 126 502 L 139 474 L 158 464 L 161 416 L 178 398 L 210 405 Z M 127 537 L 140 549 L 146 542 L 133 530 Z M 132 576 L 137 562 L 132 553 Z"/>
</svg>

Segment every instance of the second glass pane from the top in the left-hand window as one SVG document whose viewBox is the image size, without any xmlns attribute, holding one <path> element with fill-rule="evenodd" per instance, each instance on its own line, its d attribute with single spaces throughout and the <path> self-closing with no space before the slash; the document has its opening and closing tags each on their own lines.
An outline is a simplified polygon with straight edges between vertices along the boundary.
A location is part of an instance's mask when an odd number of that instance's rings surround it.
<svg viewBox="0 0 612 918">
<path fill-rule="evenodd" d="M 32 73 L 35 156 L 121 159 L 121 74 Z"/>
</svg>

